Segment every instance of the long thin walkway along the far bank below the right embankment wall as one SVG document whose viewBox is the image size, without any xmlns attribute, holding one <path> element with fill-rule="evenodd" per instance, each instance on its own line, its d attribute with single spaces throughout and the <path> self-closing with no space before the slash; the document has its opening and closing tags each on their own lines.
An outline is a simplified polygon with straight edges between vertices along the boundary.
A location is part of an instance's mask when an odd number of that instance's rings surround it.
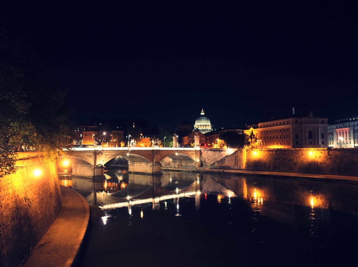
<svg viewBox="0 0 358 267">
<path fill-rule="evenodd" d="M 333 175 L 333 174 L 312 174 L 312 173 L 291 173 L 291 172 L 268 172 L 258 170 L 231 170 L 231 169 L 207 169 L 200 167 L 198 169 L 184 169 L 184 168 L 162 168 L 162 170 L 171 171 L 188 171 L 188 172 L 199 172 L 199 173 L 231 173 L 234 175 L 255 175 L 255 176 L 271 176 L 271 177 L 294 177 L 294 178 L 311 178 L 314 180 L 344 180 L 344 181 L 355 181 L 358 182 L 357 176 L 347 175 Z"/>
</svg>

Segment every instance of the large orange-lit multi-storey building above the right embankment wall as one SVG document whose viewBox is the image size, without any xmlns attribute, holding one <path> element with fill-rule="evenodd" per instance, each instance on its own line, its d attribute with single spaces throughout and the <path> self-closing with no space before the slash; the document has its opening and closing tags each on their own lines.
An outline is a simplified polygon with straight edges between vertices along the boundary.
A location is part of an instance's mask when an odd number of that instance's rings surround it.
<svg viewBox="0 0 358 267">
<path fill-rule="evenodd" d="M 257 148 L 327 148 L 328 119 L 289 115 L 248 126 L 244 133 L 255 136 Z"/>
</svg>

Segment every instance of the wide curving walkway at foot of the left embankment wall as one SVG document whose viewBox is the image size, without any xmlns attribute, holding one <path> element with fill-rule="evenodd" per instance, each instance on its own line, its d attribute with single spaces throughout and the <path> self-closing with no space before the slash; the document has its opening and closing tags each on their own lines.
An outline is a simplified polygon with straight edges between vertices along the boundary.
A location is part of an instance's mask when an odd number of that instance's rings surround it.
<svg viewBox="0 0 358 267">
<path fill-rule="evenodd" d="M 76 191 L 61 186 L 62 211 L 33 249 L 25 267 L 71 266 L 81 246 L 89 220 L 87 201 Z"/>
</svg>

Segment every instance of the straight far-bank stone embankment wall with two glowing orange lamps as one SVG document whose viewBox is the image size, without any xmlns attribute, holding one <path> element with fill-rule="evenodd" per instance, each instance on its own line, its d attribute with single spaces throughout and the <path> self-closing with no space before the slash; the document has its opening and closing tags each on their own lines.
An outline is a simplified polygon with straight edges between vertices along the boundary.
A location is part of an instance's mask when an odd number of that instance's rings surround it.
<svg viewBox="0 0 358 267">
<path fill-rule="evenodd" d="M 278 172 L 358 175 L 358 149 L 247 149 L 246 167 Z"/>
</svg>

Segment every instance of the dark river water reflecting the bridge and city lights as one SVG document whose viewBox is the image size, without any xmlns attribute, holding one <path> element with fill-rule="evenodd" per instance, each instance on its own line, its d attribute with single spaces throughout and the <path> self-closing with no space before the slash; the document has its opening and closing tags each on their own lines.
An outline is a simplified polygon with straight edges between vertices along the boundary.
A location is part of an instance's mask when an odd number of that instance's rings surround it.
<svg viewBox="0 0 358 267">
<path fill-rule="evenodd" d="M 345 255 L 343 261 L 350 257 L 347 253 L 354 255 L 358 245 L 355 185 L 187 172 L 151 176 L 111 171 L 106 178 L 93 182 L 88 177 L 60 176 L 61 184 L 73 187 L 90 204 L 97 201 L 106 213 L 93 225 L 93 238 L 98 237 L 89 241 L 83 258 L 87 263 L 101 251 L 99 240 L 103 238 L 111 247 L 132 255 L 130 249 L 145 251 L 153 246 L 166 251 L 165 241 L 174 242 L 168 236 L 172 235 L 176 241 L 171 248 L 181 252 L 181 257 L 193 260 L 189 251 L 200 257 L 195 266 L 258 266 L 272 262 L 277 253 L 278 266 L 288 262 L 293 266 L 330 266 L 342 261 L 339 254 Z M 140 233 L 149 238 L 142 242 L 154 243 L 123 248 L 110 234 L 117 229 L 123 238 Z M 149 234 L 152 231 L 154 236 Z M 160 234 L 160 244 L 154 241 L 155 231 Z M 219 251 L 213 250 L 212 242 L 218 244 Z M 101 253 L 112 257 L 108 251 Z M 170 253 L 162 255 L 171 259 Z M 127 260 L 135 261 L 134 266 L 140 264 L 134 258 Z M 116 260 L 113 256 L 112 264 Z"/>
</svg>

